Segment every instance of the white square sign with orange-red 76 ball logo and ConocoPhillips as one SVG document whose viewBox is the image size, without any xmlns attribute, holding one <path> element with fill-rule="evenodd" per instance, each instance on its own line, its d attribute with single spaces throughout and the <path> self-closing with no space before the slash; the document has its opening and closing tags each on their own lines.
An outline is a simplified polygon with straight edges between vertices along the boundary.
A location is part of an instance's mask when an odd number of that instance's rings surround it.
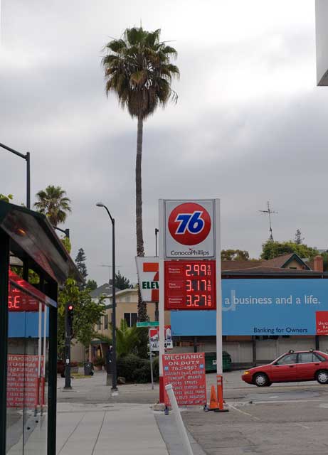
<svg viewBox="0 0 328 455">
<path fill-rule="evenodd" d="M 164 257 L 215 258 L 215 200 L 164 200 Z"/>
</svg>

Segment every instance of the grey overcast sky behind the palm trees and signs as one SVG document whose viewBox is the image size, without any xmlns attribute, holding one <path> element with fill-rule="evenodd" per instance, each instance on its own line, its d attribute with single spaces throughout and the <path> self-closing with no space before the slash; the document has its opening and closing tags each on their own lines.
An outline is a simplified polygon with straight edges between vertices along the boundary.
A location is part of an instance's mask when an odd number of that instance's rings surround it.
<svg viewBox="0 0 328 455">
<path fill-rule="evenodd" d="M 144 124 L 143 219 L 154 255 L 159 198 L 221 198 L 222 247 L 258 257 L 268 238 L 328 247 L 328 88 L 316 87 L 314 0 L 0 0 L 0 142 L 31 151 L 32 195 L 49 184 L 72 200 L 73 257 L 108 279 L 136 281 L 137 122 L 105 96 L 102 47 L 127 27 L 174 40 L 177 105 Z M 114 6 L 115 4 L 115 6 Z M 25 164 L 0 149 L 0 193 L 25 201 Z"/>
</svg>

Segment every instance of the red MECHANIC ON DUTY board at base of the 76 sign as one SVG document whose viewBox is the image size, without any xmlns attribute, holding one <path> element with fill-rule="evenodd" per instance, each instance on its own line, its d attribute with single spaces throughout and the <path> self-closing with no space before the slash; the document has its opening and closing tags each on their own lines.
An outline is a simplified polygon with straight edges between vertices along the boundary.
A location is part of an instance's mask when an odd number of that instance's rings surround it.
<svg viewBox="0 0 328 455">
<path fill-rule="evenodd" d="M 164 386 L 171 384 L 179 406 L 206 405 L 204 353 L 163 355 Z M 166 390 L 166 406 L 170 405 Z"/>
</svg>

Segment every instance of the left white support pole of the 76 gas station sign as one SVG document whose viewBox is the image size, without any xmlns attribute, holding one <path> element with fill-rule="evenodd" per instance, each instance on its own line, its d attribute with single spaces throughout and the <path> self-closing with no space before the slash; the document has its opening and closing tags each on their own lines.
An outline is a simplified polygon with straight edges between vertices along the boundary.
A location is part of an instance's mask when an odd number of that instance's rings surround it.
<svg viewBox="0 0 328 455">
<path fill-rule="evenodd" d="M 164 200 L 159 199 L 159 402 L 164 403 Z"/>
</svg>

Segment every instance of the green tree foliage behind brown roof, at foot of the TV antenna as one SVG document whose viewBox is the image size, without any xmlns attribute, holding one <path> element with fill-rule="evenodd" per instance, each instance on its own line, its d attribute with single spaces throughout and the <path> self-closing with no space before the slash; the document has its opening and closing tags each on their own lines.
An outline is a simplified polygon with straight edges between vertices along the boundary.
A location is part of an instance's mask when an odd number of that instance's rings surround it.
<svg viewBox="0 0 328 455">
<path fill-rule="evenodd" d="M 274 242 L 273 240 L 267 240 L 262 245 L 261 259 L 273 259 L 281 255 L 287 255 L 289 253 L 296 253 L 301 258 L 310 258 L 318 255 L 319 252 L 315 248 L 308 247 L 304 244 L 297 244 L 291 240 L 287 242 Z"/>
</svg>

